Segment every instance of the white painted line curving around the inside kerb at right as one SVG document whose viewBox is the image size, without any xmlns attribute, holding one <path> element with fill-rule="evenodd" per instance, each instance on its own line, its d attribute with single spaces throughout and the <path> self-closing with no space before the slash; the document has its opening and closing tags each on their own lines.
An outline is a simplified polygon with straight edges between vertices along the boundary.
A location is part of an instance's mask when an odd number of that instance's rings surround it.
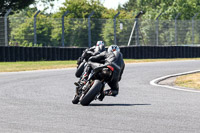
<svg viewBox="0 0 200 133">
<path fill-rule="evenodd" d="M 153 85 L 153 86 L 165 87 L 165 88 L 169 88 L 169 89 L 173 89 L 173 90 L 200 93 L 200 91 L 198 91 L 198 90 L 182 89 L 182 88 L 177 88 L 177 87 L 173 87 L 173 86 L 159 85 L 158 84 L 158 82 L 160 82 L 162 80 L 165 80 L 167 78 L 186 75 L 186 74 L 192 74 L 192 73 L 197 73 L 197 72 L 200 72 L 200 70 L 194 70 L 194 71 L 189 71 L 189 72 L 184 72 L 184 73 L 178 73 L 178 74 L 163 76 L 163 77 L 160 77 L 160 78 L 157 78 L 157 79 L 154 79 L 154 80 L 150 81 L 150 84 Z"/>
</svg>

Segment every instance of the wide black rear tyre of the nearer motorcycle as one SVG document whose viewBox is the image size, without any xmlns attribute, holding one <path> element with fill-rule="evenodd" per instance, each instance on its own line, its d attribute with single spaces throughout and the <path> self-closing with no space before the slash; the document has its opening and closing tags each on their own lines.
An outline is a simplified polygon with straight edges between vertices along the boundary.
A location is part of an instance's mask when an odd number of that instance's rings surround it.
<svg viewBox="0 0 200 133">
<path fill-rule="evenodd" d="M 83 106 L 89 105 L 92 100 L 99 94 L 101 91 L 101 88 L 103 87 L 103 84 L 99 80 L 95 80 L 94 84 L 90 88 L 90 90 L 87 92 L 87 94 L 81 99 L 80 104 Z"/>
</svg>

